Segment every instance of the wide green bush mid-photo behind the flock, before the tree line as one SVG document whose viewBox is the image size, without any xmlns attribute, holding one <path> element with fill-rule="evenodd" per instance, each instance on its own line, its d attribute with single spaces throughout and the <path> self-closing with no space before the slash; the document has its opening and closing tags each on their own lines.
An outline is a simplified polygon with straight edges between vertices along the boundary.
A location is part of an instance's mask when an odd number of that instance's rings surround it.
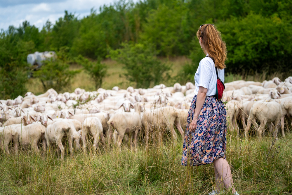
<svg viewBox="0 0 292 195">
<path fill-rule="evenodd" d="M 161 63 L 149 45 L 122 43 L 122 49 L 111 50 L 109 56 L 125 65 L 125 76 L 136 87 L 148 88 L 170 78 L 170 67 Z"/>
</svg>

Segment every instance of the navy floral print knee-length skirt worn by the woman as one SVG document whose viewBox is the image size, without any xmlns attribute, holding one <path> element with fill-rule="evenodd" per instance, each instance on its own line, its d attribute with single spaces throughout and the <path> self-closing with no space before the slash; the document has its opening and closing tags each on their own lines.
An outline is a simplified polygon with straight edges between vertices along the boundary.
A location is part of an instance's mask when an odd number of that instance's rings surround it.
<svg viewBox="0 0 292 195">
<path fill-rule="evenodd" d="M 187 116 L 187 128 L 183 142 L 181 164 L 192 166 L 211 164 L 215 159 L 225 158 L 226 110 L 223 102 L 215 96 L 207 96 L 197 120 L 195 132 L 189 130 L 194 117 L 197 96 L 195 95 Z"/>
</svg>

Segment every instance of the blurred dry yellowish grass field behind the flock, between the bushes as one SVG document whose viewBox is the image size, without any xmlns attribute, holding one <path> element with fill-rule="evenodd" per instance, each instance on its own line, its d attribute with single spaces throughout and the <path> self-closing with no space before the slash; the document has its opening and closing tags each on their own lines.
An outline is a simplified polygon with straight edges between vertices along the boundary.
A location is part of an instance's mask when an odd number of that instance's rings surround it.
<svg viewBox="0 0 292 195">
<path fill-rule="evenodd" d="M 191 60 L 185 56 L 179 56 L 179 57 L 173 57 L 173 58 L 160 58 L 160 60 L 163 63 L 166 63 L 167 65 L 170 65 L 171 68 L 171 77 L 172 79 L 165 82 L 167 86 L 172 86 L 178 78 L 176 76 L 178 75 L 179 71 L 181 70 L 182 66 L 186 63 L 191 63 Z M 107 65 L 107 76 L 105 77 L 102 88 L 104 89 L 112 89 L 114 86 L 118 86 L 121 89 L 126 89 L 128 86 L 135 87 L 134 83 L 130 83 L 126 77 L 124 76 L 124 73 L 126 70 L 123 68 L 123 64 L 119 64 L 116 61 L 107 59 L 102 61 L 102 63 Z M 71 70 L 80 70 L 82 69 L 82 66 L 80 65 L 71 65 Z M 284 79 L 285 73 L 274 73 L 273 75 L 266 75 L 265 73 L 255 73 L 253 75 L 248 74 L 225 74 L 225 82 L 231 82 L 235 80 L 249 80 L 249 81 L 260 81 L 263 82 L 264 80 L 271 80 L 274 77 L 279 77 Z M 286 78 L 286 77 L 285 77 Z M 185 83 L 181 83 L 185 84 Z M 31 78 L 29 79 L 29 82 L 26 84 L 26 87 L 28 91 L 33 92 L 34 94 L 41 94 L 44 93 L 43 86 L 41 82 L 38 79 Z M 85 89 L 86 91 L 94 91 L 94 83 L 91 80 L 90 76 L 84 71 L 81 70 L 80 73 L 76 74 L 74 78 L 72 79 L 71 86 L 65 88 L 63 91 L 68 92 L 74 92 L 74 89 L 77 87 L 80 87 L 82 89 Z"/>
</svg>

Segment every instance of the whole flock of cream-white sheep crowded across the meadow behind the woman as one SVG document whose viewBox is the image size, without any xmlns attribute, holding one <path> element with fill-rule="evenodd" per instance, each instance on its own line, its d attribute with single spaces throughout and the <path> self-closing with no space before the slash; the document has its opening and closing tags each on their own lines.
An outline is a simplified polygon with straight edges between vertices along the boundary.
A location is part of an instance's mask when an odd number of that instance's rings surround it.
<svg viewBox="0 0 292 195">
<path fill-rule="evenodd" d="M 191 82 L 183 86 L 175 83 L 173 87 L 160 84 L 149 89 L 100 88 L 94 92 L 77 88 L 73 93 L 63 94 L 49 89 L 38 96 L 27 92 L 14 100 L 0 100 L 1 149 L 10 153 L 13 146 L 17 153 L 20 145 L 31 146 L 39 152 L 42 146 L 46 152 L 51 149 L 51 143 L 55 143 L 58 156 L 61 153 L 63 159 L 62 139 L 67 139 L 71 155 L 73 144 L 78 150 L 81 142 L 82 150 L 92 145 L 95 151 L 106 142 L 107 145 L 114 142 L 120 149 L 124 139 L 136 150 L 138 137 L 147 147 L 150 138 L 164 134 L 165 130 L 170 132 L 171 139 L 177 140 L 175 129 L 184 138 L 193 96 Z M 284 137 L 285 120 L 286 125 L 291 121 L 291 100 L 292 77 L 284 82 L 275 77 L 264 82 L 225 83 L 222 101 L 226 102 L 229 131 L 236 130 L 239 136 L 242 129 L 247 137 L 253 125 L 260 138 L 267 126 L 277 138 L 281 124 Z"/>
</svg>

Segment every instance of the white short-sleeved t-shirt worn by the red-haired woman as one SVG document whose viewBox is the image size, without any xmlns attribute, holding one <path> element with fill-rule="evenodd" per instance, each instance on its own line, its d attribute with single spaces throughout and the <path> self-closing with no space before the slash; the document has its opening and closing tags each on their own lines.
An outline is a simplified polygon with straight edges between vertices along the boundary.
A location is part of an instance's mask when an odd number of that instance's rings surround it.
<svg viewBox="0 0 292 195">
<path fill-rule="evenodd" d="M 220 70 L 219 68 L 217 68 L 217 70 L 218 70 L 219 78 L 224 83 L 224 68 L 223 70 Z M 217 76 L 216 76 L 215 64 L 211 58 L 205 57 L 201 59 L 199 63 L 199 67 L 195 74 L 194 94 L 198 95 L 199 86 L 202 86 L 208 89 L 206 96 L 213 96 L 216 94 L 216 84 L 217 84 Z"/>
</svg>

